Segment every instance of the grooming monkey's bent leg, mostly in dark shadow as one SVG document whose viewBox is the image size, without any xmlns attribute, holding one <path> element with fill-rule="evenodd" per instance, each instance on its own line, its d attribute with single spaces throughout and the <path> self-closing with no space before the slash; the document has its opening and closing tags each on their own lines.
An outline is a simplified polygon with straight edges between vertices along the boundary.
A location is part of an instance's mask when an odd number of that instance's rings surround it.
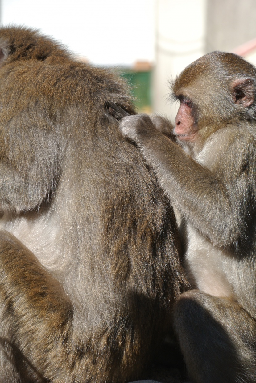
<svg viewBox="0 0 256 383">
<path fill-rule="evenodd" d="M 183 293 L 174 327 L 194 382 L 256 381 L 256 321 L 237 303 L 198 290 Z"/>
</svg>

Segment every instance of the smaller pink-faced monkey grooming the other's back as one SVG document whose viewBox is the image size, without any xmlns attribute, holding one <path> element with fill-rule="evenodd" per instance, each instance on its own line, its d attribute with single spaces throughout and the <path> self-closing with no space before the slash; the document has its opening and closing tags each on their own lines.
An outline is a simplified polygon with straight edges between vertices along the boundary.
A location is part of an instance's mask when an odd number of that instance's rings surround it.
<svg viewBox="0 0 256 383">
<path fill-rule="evenodd" d="M 256 381 L 256 69 L 211 52 L 171 83 L 175 126 L 126 116 L 124 137 L 141 150 L 183 217 L 192 290 L 173 310 L 196 383 Z M 169 132 L 169 137 L 167 134 Z"/>
</svg>

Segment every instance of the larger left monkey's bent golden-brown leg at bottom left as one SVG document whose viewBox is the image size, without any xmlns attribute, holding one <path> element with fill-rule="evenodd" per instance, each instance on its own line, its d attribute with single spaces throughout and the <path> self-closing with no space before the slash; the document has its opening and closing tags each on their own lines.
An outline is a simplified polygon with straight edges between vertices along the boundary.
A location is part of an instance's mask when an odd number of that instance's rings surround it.
<svg viewBox="0 0 256 383">
<path fill-rule="evenodd" d="M 34 254 L 6 231 L 0 231 L 0 314 L 1 382 L 59 382 L 64 374 L 71 381 L 65 355 L 71 304 Z"/>
</svg>

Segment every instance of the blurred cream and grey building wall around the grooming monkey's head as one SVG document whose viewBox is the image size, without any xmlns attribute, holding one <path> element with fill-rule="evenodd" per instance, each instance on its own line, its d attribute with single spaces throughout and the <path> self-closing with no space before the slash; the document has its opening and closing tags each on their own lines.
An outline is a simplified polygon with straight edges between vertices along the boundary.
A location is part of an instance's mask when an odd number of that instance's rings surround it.
<svg viewBox="0 0 256 383">
<path fill-rule="evenodd" d="M 174 119 L 169 81 L 215 50 L 233 51 L 256 64 L 255 0 L 156 0 L 153 110 Z"/>
</svg>

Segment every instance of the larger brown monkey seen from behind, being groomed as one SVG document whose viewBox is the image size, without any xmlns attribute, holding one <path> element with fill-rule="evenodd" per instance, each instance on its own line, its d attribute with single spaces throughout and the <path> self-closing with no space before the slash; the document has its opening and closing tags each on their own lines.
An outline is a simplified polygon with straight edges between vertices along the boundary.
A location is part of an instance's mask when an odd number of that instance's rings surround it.
<svg viewBox="0 0 256 383">
<path fill-rule="evenodd" d="M 0 382 L 136 380 L 189 288 L 122 81 L 0 29 Z"/>
</svg>

